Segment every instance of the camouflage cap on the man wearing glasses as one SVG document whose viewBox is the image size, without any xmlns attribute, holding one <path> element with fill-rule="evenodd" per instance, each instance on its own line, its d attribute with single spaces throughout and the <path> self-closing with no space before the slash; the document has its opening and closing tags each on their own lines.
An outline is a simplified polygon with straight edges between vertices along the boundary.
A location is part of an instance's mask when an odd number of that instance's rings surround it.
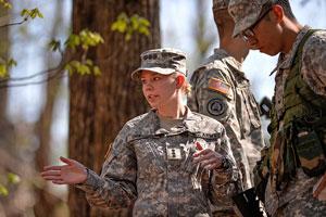
<svg viewBox="0 0 326 217">
<path fill-rule="evenodd" d="M 233 37 L 251 27 L 260 17 L 263 5 L 273 0 L 230 0 L 228 12 L 235 21 Z"/>
</svg>

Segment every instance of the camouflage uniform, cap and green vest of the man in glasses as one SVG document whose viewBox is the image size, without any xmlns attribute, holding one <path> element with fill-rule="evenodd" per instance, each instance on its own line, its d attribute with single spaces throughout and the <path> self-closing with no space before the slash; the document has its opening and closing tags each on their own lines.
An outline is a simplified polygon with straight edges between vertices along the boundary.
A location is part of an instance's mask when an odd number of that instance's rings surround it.
<svg viewBox="0 0 326 217">
<path fill-rule="evenodd" d="M 254 24 L 271 2 L 231 0 L 229 13 L 237 23 L 234 35 Z M 326 202 L 313 197 L 313 187 L 325 173 L 325 60 L 326 31 L 308 26 L 290 52 L 279 56 L 268 126 L 271 148 L 256 167 L 259 178 L 267 181 L 265 206 L 272 216 L 326 216 Z"/>
</svg>

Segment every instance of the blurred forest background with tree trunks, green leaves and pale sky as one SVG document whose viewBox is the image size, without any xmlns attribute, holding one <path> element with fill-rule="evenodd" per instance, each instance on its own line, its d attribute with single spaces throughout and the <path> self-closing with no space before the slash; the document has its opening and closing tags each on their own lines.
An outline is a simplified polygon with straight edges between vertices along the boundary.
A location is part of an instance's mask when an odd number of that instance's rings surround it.
<svg viewBox="0 0 326 217">
<path fill-rule="evenodd" d="M 326 28 L 326 1 L 291 4 L 301 24 Z M 62 155 L 99 173 L 123 124 L 148 110 L 129 79 L 139 54 L 180 49 L 191 73 L 218 46 L 211 8 L 211 0 L 0 0 L 0 216 L 127 216 L 90 208 L 83 192 L 46 183 L 39 171 Z M 276 60 L 251 51 L 244 62 L 258 101 L 273 95 Z"/>
</svg>

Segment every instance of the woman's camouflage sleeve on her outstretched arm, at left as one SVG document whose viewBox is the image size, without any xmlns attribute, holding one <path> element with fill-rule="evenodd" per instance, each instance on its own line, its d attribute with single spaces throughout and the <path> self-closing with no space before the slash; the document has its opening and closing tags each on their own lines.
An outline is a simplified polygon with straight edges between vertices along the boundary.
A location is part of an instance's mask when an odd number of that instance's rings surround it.
<svg viewBox="0 0 326 217">
<path fill-rule="evenodd" d="M 137 199 L 137 162 L 135 152 L 126 142 L 127 132 L 125 126 L 115 138 L 101 175 L 88 170 L 86 182 L 77 186 L 86 192 L 91 206 L 123 208 L 129 207 Z"/>
</svg>

